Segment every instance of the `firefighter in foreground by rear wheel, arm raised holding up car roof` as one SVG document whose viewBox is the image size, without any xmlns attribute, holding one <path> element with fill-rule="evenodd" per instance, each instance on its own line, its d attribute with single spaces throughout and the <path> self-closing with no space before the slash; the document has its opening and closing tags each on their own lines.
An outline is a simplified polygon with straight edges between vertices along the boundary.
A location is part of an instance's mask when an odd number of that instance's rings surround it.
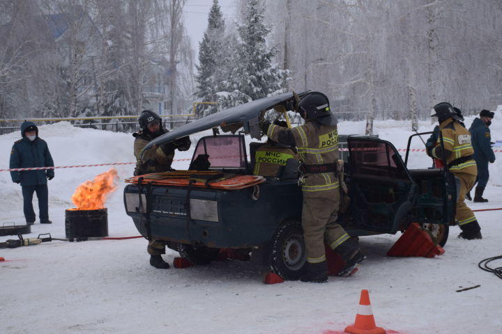
<svg viewBox="0 0 502 334">
<path fill-rule="evenodd" d="M 338 276 L 350 276 L 366 257 L 360 253 L 358 241 L 336 223 L 340 205 L 338 133 L 328 97 L 319 92 L 309 93 L 298 102 L 296 111 L 305 120 L 304 125 L 288 129 L 262 120 L 261 129 L 273 141 L 298 149 L 303 163 L 302 228 L 307 255 L 300 280 L 324 283 L 328 280 L 325 240 L 345 261 Z"/>
</svg>

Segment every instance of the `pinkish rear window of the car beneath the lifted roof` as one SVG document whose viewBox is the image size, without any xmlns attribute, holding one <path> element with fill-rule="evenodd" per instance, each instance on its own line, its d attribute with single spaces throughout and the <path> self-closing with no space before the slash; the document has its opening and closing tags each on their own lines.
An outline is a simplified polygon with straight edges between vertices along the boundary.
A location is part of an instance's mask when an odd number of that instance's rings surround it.
<svg viewBox="0 0 502 334">
<path fill-rule="evenodd" d="M 197 143 L 192 161 L 207 154 L 211 168 L 245 168 L 246 153 L 242 136 L 207 136 Z"/>
</svg>

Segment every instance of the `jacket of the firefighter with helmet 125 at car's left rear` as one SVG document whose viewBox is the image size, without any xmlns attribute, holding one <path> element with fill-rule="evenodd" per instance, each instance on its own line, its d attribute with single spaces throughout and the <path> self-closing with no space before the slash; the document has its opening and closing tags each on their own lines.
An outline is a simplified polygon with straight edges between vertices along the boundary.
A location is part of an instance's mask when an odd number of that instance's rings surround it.
<svg viewBox="0 0 502 334">
<path fill-rule="evenodd" d="M 167 132 L 165 130 L 163 131 Z M 135 175 L 159 173 L 171 169 L 171 164 L 174 159 L 174 148 L 167 154 L 162 150 L 161 146 L 154 146 L 150 150 L 144 151 L 144 154 L 142 154 L 143 148 L 151 142 L 153 138 L 146 132 L 138 132 L 132 134 L 132 136 L 135 136 Z"/>
</svg>

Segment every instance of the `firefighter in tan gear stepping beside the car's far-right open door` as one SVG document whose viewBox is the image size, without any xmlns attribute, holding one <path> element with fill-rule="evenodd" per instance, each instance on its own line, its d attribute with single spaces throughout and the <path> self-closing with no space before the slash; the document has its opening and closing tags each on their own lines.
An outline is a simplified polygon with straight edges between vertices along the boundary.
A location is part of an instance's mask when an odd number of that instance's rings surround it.
<svg viewBox="0 0 502 334">
<path fill-rule="evenodd" d="M 434 111 L 432 116 L 438 118 L 439 130 L 443 135 L 444 150 L 441 145 L 436 145 L 433 148 L 427 148 L 427 154 L 434 159 L 446 159 L 450 172 L 460 181 L 457 193 L 457 214 L 455 215 L 455 220 L 458 221 L 459 228 L 462 230 L 459 238 L 481 239 L 481 228 L 476 216 L 465 204 L 466 193 L 472 188 L 478 174 L 476 161 L 473 159 L 471 134 L 453 118 L 455 110 L 448 102 L 436 104 Z"/>
</svg>

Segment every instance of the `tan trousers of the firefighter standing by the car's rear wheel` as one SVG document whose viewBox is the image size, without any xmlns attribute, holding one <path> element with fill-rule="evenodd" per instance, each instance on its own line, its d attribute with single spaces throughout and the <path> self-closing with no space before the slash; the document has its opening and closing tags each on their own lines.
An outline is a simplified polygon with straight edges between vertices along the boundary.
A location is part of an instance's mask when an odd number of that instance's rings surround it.
<svg viewBox="0 0 502 334">
<path fill-rule="evenodd" d="M 303 191 L 302 228 L 307 262 L 326 260 L 324 243 L 335 249 L 350 238 L 336 223 L 340 205 L 340 189 Z"/>
</svg>

